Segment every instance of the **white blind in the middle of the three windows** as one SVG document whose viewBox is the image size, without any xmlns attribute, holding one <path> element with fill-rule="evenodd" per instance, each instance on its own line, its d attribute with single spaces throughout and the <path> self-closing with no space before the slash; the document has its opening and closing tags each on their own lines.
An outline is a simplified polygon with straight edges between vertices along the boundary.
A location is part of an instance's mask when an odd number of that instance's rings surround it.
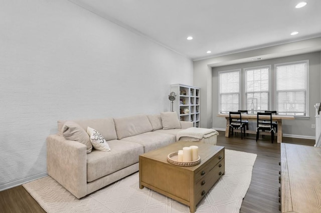
<svg viewBox="0 0 321 213">
<path fill-rule="evenodd" d="M 269 110 L 269 66 L 245 68 L 245 108 L 250 114 Z"/>
</svg>

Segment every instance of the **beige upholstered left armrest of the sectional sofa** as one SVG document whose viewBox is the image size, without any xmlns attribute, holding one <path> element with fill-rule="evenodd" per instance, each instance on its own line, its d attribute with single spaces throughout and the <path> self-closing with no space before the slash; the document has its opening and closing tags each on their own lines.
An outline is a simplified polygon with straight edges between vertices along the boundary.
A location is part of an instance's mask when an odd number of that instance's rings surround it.
<svg viewBox="0 0 321 213">
<path fill-rule="evenodd" d="M 87 193 L 86 145 L 58 134 L 47 137 L 47 170 L 77 198 Z"/>
</svg>

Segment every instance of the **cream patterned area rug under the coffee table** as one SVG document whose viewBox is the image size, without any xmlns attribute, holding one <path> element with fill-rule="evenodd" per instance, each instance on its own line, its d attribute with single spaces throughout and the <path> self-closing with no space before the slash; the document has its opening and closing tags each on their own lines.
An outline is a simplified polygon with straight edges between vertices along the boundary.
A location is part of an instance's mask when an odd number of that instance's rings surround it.
<svg viewBox="0 0 321 213">
<path fill-rule="evenodd" d="M 250 185 L 256 154 L 225 149 L 225 175 L 196 206 L 196 212 L 239 212 Z M 151 189 L 139 188 L 139 174 L 77 199 L 46 176 L 23 184 L 47 212 L 190 212 L 189 207 Z"/>
</svg>

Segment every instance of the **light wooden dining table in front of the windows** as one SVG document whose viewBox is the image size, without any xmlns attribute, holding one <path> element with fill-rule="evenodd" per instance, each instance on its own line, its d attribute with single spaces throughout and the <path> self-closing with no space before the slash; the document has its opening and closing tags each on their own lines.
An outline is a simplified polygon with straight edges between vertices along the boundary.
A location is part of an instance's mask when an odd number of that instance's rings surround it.
<svg viewBox="0 0 321 213">
<path fill-rule="evenodd" d="M 225 136 L 229 136 L 229 114 L 217 114 L 218 117 L 225 117 L 226 118 L 226 130 Z M 265 115 L 264 115 L 265 116 Z M 232 116 L 233 117 L 233 116 Z M 266 115 L 266 118 L 269 119 L 270 116 Z M 257 120 L 257 114 L 242 114 L 242 120 Z M 293 115 L 280 115 L 280 114 L 272 114 L 272 120 L 277 121 L 277 142 L 282 142 L 282 120 L 294 120 Z M 256 134 L 256 130 L 246 130 L 246 133 Z M 263 134 L 268 134 L 269 132 L 263 132 Z"/>
</svg>

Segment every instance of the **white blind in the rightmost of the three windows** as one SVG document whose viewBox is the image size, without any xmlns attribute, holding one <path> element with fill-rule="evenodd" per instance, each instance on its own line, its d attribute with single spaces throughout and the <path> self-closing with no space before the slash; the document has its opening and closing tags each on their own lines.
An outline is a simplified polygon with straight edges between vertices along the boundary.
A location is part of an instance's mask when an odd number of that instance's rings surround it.
<svg viewBox="0 0 321 213">
<path fill-rule="evenodd" d="M 276 110 L 305 116 L 307 62 L 276 64 Z"/>
</svg>

